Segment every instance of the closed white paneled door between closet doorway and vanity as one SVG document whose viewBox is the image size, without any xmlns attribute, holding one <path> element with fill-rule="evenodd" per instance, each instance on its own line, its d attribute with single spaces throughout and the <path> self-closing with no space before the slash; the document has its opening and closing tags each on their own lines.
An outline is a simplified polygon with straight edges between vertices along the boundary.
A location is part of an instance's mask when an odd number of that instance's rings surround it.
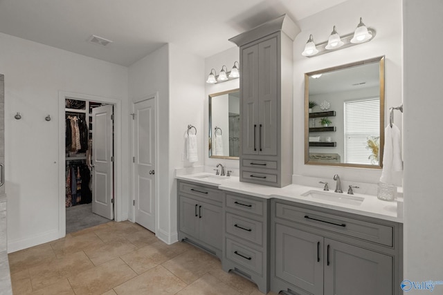
<svg viewBox="0 0 443 295">
<path fill-rule="evenodd" d="M 135 222 L 155 232 L 155 105 L 154 98 L 134 104 Z"/>
</svg>

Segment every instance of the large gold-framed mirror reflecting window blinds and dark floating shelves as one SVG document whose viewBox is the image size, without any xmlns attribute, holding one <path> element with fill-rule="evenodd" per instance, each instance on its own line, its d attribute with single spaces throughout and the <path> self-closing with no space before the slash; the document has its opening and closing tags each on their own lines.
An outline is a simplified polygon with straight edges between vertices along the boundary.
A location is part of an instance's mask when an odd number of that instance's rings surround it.
<svg viewBox="0 0 443 295">
<path fill-rule="evenodd" d="M 305 74 L 305 163 L 381 169 L 384 57 Z"/>
</svg>

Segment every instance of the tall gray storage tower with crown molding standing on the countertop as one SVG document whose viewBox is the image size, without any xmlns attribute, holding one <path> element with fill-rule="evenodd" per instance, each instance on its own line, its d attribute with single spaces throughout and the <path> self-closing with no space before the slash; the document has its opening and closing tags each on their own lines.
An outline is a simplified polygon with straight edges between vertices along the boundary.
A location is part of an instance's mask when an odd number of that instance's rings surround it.
<svg viewBox="0 0 443 295">
<path fill-rule="evenodd" d="M 230 39 L 240 50 L 240 181 L 292 181 L 293 39 L 287 15 Z"/>
</svg>

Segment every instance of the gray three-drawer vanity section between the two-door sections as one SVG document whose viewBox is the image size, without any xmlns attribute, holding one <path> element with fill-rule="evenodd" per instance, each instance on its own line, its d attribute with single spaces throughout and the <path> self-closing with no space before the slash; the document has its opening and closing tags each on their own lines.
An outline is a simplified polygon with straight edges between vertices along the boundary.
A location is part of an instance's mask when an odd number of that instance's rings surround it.
<svg viewBox="0 0 443 295">
<path fill-rule="evenodd" d="M 221 267 L 269 292 L 269 200 L 225 193 Z"/>
</svg>

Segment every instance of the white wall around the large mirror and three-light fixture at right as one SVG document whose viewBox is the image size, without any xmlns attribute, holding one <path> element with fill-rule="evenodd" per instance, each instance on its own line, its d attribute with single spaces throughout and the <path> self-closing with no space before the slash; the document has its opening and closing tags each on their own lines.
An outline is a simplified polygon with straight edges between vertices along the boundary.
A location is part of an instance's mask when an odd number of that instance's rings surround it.
<svg viewBox="0 0 443 295">
<path fill-rule="evenodd" d="M 327 41 L 335 25 L 339 34 L 354 32 L 359 18 L 366 26 L 377 30 L 370 42 L 327 53 L 318 57 L 301 55 L 309 34 L 316 43 Z M 378 169 L 340 168 L 336 166 L 305 165 L 304 153 L 304 73 L 330 68 L 353 61 L 386 56 L 386 109 L 401 104 L 401 0 L 352 0 L 334 6 L 299 21 L 302 30 L 293 43 L 294 95 L 293 95 L 293 174 L 331 180 L 339 173 L 346 181 L 378 182 Z M 397 118 L 399 116 L 397 115 Z M 396 120 L 401 129 L 401 122 Z"/>
</svg>

